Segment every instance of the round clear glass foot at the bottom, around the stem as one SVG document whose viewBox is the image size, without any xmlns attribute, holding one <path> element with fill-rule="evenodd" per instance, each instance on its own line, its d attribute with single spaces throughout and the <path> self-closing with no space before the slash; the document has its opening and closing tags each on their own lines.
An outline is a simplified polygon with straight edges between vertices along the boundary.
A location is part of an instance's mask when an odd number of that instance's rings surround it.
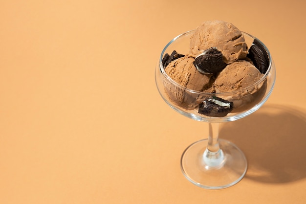
<svg viewBox="0 0 306 204">
<path fill-rule="evenodd" d="M 239 182 L 246 173 L 247 161 L 243 152 L 232 142 L 219 139 L 223 161 L 217 166 L 207 164 L 203 157 L 208 139 L 191 144 L 181 157 L 184 176 L 195 185 L 206 189 L 221 189 Z"/>
</svg>

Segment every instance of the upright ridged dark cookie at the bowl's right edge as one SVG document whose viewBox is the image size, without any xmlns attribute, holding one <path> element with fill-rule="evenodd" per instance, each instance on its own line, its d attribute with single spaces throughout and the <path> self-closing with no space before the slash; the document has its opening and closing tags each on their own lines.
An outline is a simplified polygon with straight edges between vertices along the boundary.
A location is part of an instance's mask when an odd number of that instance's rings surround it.
<svg viewBox="0 0 306 204">
<path fill-rule="evenodd" d="M 270 64 L 269 55 L 262 43 L 257 39 L 254 39 L 247 57 L 252 60 L 254 66 L 258 68 L 261 73 L 264 74 L 267 71 Z"/>
</svg>

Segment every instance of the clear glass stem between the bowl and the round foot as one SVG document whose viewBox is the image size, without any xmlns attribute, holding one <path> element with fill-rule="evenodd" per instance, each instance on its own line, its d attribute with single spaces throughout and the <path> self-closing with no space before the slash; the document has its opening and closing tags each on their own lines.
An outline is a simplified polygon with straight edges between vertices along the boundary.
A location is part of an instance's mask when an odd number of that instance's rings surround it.
<svg viewBox="0 0 306 204">
<path fill-rule="evenodd" d="M 219 123 L 208 123 L 208 144 L 203 154 L 205 168 L 218 167 L 224 161 L 224 155 L 219 148 Z"/>
</svg>

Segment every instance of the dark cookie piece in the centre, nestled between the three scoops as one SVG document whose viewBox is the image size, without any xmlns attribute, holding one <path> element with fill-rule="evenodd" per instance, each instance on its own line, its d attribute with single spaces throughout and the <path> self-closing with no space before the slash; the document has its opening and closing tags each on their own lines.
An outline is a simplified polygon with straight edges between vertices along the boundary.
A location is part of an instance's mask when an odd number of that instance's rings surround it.
<svg viewBox="0 0 306 204">
<path fill-rule="evenodd" d="M 226 67 L 222 56 L 216 47 L 211 47 L 196 57 L 194 65 L 203 74 L 218 73 Z"/>
</svg>

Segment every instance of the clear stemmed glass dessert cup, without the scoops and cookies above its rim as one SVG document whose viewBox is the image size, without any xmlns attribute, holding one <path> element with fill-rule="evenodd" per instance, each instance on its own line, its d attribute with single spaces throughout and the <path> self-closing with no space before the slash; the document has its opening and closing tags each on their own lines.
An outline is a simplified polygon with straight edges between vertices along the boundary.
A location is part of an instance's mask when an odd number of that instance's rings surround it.
<svg viewBox="0 0 306 204">
<path fill-rule="evenodd" d="M 269 56 L 269 67 L 263 77 L 253 85 L 224 93 L 206 93 L 182 87 L 167 75 L 162 66 L 162 58 L 173 50 L 180 54 L 189 53 L 190 37 L 194 32 L 192 30 L 183 33 L 165 46 L 156 65 L 155 82 L 161 97 L 172 109 L 191 119 L 208 123 L 208 138 L 194 142 L 182 154 L 181 170 L 184 176 L 199 187 L 221 189 L 236 184 L 244 177 L 247 161 L 235 144 L 219 139 L 219 124 L 245 117 L 263 105 L 274 87 L 275 66 L 268 49 L 262 44 Z M 245 32 L 242 34 L 250 47 L 255 37 Z M 232 101 L 232 112 L 223 117 L 198 113 L 198 104 L 212 96 Z"/>
</svg>

